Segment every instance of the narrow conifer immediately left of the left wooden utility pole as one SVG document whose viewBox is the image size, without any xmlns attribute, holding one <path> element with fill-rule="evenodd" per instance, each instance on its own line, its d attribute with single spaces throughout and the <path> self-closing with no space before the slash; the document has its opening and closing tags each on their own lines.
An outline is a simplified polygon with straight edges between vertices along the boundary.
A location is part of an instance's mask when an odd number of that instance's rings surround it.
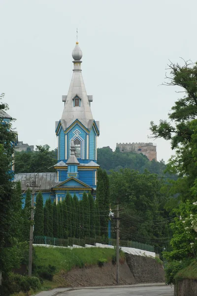
<svg viewBox="0 0 197 296">
<path fill-rule="evenodd" d="M 25 198 L 25 207 L 23 209 L 23 239 L 30 239 L 30 219 L 31 219 L 31 190 L 28 188 Z"/>
</svg>

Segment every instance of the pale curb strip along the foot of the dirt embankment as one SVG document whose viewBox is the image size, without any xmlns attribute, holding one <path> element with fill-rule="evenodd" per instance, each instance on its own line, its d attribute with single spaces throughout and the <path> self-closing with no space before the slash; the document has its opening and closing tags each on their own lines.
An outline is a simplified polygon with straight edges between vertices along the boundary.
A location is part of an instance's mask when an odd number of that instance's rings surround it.
<svg viewBox="0 0 197 296">
<path fill-rule="evenodd" d="M 134 284 L 134 285 L 117 285 L 117 286 L 99 286 L 99 287 L 80 287 L 80 288 L 60 288 L 54 289 L 56 291 L 43 291 L 34 294 L 33 296 L 57 296 L 58 294 L 63 294 L 69 291 L 76 291 L 76 290 L 99 290 L 99 289 L 114 289 L 114 288 L 141 288 L 141 287 L 160 287 L 166 286 L 165 283 L 150 283 L 150 284 Z M 58 290 L 58 291 L 57 291 Z"/>
</svg>

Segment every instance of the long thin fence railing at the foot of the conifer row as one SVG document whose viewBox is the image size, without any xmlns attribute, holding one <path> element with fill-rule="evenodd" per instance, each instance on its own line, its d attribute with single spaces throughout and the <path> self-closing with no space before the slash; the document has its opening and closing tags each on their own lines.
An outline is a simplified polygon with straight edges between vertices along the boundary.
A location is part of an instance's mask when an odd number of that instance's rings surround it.
<svg viewBox="0 0 197 296">
<path fill-rule="evenodd" d="M 116 239 L 111 239 L 111 238 L 107 239 L 102 236 L 96 236 L 95 238 L 93 238 L 93 237 L 85 237 L 85 238 L 68 237 L 66 239 L 56 238 L 56 237 L 48 237 L 48 236 L 34 236 L 33 243 L 34 244 L 53 245 L 53 246 L 62 246 L 62 247 L 67 247 L 67 246 L 72 246 L 72 245 L 78 245 L 81 247 L 85 247 L 86 244 L 95 245 L 95 243 L 116 246 Z M 131 240 L 120 240 L 120 246 L 154 252 L 153 246 L 138 243 L 138 242 L 133 242 Z"/>
</svg>

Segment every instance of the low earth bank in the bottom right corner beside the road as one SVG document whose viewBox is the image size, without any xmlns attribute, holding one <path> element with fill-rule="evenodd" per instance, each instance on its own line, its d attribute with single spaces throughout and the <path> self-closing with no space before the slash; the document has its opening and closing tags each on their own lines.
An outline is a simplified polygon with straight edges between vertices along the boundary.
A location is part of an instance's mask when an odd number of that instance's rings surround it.
<svg viewBox="0 0 197 296">
<path fill-rule="evenodd" d="M 178 281 L 174 287 L 174 296 L 197 296 L 197 280 Z"/>
</svg>

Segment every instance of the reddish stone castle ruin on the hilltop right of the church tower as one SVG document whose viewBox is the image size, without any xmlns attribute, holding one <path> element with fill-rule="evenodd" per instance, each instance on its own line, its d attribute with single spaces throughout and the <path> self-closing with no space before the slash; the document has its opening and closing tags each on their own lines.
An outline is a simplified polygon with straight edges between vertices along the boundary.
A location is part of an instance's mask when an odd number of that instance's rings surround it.
<svg viewBox="0 0 197 296">
<path fill-rule="evenodd" d="M 153 143 L 117 143 L 116 148 L 119 148 L 120 152 L 142 153 L 150 161 L 157 160 L 157 146 Z"/>
</svg>

